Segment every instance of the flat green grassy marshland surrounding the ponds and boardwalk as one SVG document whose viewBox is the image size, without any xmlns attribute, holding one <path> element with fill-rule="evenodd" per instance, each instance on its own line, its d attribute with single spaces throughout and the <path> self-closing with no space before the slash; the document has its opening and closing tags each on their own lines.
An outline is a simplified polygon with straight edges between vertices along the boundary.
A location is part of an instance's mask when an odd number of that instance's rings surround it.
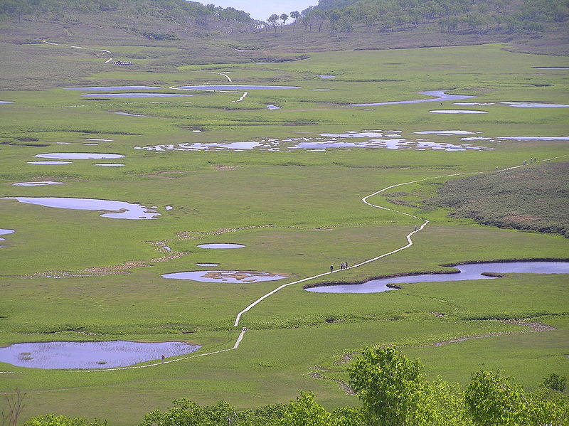
<svg viewBox="0 0 569 426">
<path fill-rule="evenodd" d="M 108 48 L 105 46 L 92 46 Z M 422 220 L 366 206 L 361 198 L 381 188 L 419 179 L 372 197 L 371 203 L 430 220 L 413 237 L 415 245 L 362 267 L 315 282 L 361 282 L 403 272 L 443 271 L 477 260 L 569 258 L 569 240 L 479 225 L 450 218 L 442 208 L 398 206 L 389 193 L 417 199 L 435 196 L 448 179 L 569 154 L 566 141 L 504 141 L 504 136 L 567 136 L 569 108 L 516 108 L 499 102 L 569 103 L 567 58 L 511 53 L 501 45 L 405 50 L 311 53 L 278 64 L 186 65 L 153 73 L 103 68 L 101 58 L 60 46 L 34 45 L 66 55 L 85 72 L 62 78 L 56 89 L 0 92 L 0 196 L 102 198 L 161 213 L 154 220 L 100 218 L 100 212 L 46 208 L 0 200 L 0 345 L 24 341 L 190 341 L 198 353 L 233 346 L 239 311 L 280 284 L 325 272 L 332 263 L 356 264 L 402 247 Z M 66 50 L 65 50 L 66 49 Z M 113 50 L 114 48 L 110 48 Z M 62 53 L 65 50 L 65 53 Z M 151 60 L 175 56 L 158 46 L 122 46 L 126 55 Z M 76 55 L 76 56 L 75 56 Z M 468 58 L 468 60 L 464 60 Z M 145 65 L 146 66 L 146 65 Z M 141 67 L 142 68 L 142 67 Z M 240 94 L 189 92 L 192 97 L 85 100 L 79 85 L 226 84 L 297 85 L 295 90 L 251 90 Z M 336 75 L 321 80 L 318 74 Z M 27 87 L 26 87 L 27 88 Z M 313 92 L 310 89 L 331 89 Z M 355 102 L 419 99 L 417 92 L 450 90 L 495 102 L 457 107 L 452 102 L 351 107 Z M 147 92 L 147 90 L 139 90 Z M 181 92 L 186 93 L 186 92 Z M 99 96 L 97 96 L 99 98 Z M 104 92 L 100 98 L 105 98 Z M 153 103 L 157 102 L 157 103 Z M 464 102 L 469 102 L 468 100 Z M 281 110 L 267 110 L 275 104 Z M 486 110 L 485 115 L 442 115 L 433 109 Z M 371 109 L 371 111 L 366 111 Z M 129 112 L 148 117 L 129 117 Z M 193 132 L 199 129 L 201 132 Z M 157 144 L 280 141 L 378 129 L 398 130 L 408 139 L 463 144 L 465 135 L 415 134 L 468 130 L 491 138 L 470 142 L 489 151 L 413 149 L 329 149 L 307 151 L 144 151 Z M 113 139 L 85 146 L 87 138 Z M 65 142 L 61 144 L 58 142 Z M 124 155 L 124 167 L 75 160 L 38 166 L 36 154 L 103 152 Z M 13 186 L 52 180 L 53 186 Z M 173 206 L 166 210 L 166 206 Z M 157 241 L 176 256 L 161 250 Z M 241 243 L 239 250 L 206 250 L 201 243 Z M 125 267 L 119 267 L 125 262 Z M 278 282 L 201 283 L 168 280 L 167 272 L 206 269 L 259 270 L 289 275 Z M 89 268 L 98 269 L 94 275 Z M 46 272 L 70 276 L 55 279 Z M 118 273 L 109 273 L 118 272 Z M 42 274 L 43 273 L 43 274 Z M 75 276 L 73 276 L 75 275 Z M 331 380 L 311 377 L 316 366 L 344 380 L 344 353 L 363 346 L 398 344 L 420 356 L 427 373 L 467 383 L 480 368 L 506 369 L 528 388 L 543 376 L 569 373 L 569 312 L 566 275 L 510 274 L 483 282 L 408 284 L 379 294 L 317 294 L 302 284 L 287 287 L 244 314 L 249 331 L 238 350 L 164 366 L 87 373 L 19 368 L 0 363 L 0 392 L 27 392 L 24 417 L 55 412 L 108 418 L 111 425 L 135 425 L 174 398 L 198 403 L 228 400 L 240 408 L 286 402 L 299 390 L 314 390 L 327 408 L 356 405 Z M 437 316 L 437 314 L 445 314 Z M 503 320 L 528 319 L 555 326 L 531 333 Z M 332 320 L 331 322 L 326 321 Z M 191 333 L 188 333 L 191 331 Z M 184 333 L 186 332 L 186 333 Z M 489 336 L 440 347 L 467 336 Z"/>
</svg>

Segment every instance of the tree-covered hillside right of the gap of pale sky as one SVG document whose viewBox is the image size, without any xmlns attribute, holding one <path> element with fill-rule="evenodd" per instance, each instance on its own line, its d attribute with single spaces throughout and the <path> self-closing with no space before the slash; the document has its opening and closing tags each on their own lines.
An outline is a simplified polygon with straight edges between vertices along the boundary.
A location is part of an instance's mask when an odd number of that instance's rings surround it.
<svg viewBox="0 0 569 426">
<path fill-rule="evenodd" d="M 567 0 L 319 0 L 302 18 L 332 33 L 424 24 L 444 33 L 543 33 L 568 20 L 568 6 Z"/>
</svg>

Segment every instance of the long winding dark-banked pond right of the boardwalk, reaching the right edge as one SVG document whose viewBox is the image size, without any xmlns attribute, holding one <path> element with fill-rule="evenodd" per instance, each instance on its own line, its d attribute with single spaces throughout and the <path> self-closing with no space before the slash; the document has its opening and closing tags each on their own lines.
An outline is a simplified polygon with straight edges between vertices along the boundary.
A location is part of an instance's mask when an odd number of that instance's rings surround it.
<svg viewBox="0 0 569 426">
<path fill-rule="evenodd" d="M 454 268 L 460 272 L 451 274 L 405 275 L 403 277 L 371 279 L 363 284 L 324 285 L 320 287 L 307 288 L 307 291 L 317 293 L 379 293 L 395 289 L 393 287 L 388 287 L 387 284 L 398 284 L 403 282 L 464 281 L 465 279 L 495 278 L 481 275 L 482 272 L 492 272 L 496 274 L 569 274 L 569 262 L 488 262 L 456 265 Z"/>
</svg>

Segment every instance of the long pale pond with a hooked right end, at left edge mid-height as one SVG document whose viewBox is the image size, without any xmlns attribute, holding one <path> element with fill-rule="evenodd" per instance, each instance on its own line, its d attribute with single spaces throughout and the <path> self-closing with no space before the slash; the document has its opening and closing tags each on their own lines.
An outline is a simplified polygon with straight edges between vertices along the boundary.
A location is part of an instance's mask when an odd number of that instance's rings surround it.
<svg viewBox="0 0 569 426">
<path fill-rule="evenodd" d="M 20 203 L 36 204 L 37 206 L 69 208 L 71 210 L 109 211 L 102 218 L 113 219 L 153 219 L 160 213 L 150 210 L 140 204 L 125 201 L 97 200 L 93 198 L 63 198 L 63 197 L 0 197 L 0 200 L 18 200 Z"/>
</svg>

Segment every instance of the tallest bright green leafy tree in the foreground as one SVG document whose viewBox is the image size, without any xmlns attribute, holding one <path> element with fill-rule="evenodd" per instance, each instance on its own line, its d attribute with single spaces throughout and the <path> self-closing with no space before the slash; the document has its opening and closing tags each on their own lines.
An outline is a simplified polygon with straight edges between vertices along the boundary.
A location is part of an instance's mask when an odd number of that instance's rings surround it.
<svg viewBox="0 0 569 426">
<path fill-rule="evenodd" d="M 423 388 L 422 364 L 395 347 L 366 348 L 348 372 L 371 425 L 404 426 L 417 408 Z"/>
</svg>

